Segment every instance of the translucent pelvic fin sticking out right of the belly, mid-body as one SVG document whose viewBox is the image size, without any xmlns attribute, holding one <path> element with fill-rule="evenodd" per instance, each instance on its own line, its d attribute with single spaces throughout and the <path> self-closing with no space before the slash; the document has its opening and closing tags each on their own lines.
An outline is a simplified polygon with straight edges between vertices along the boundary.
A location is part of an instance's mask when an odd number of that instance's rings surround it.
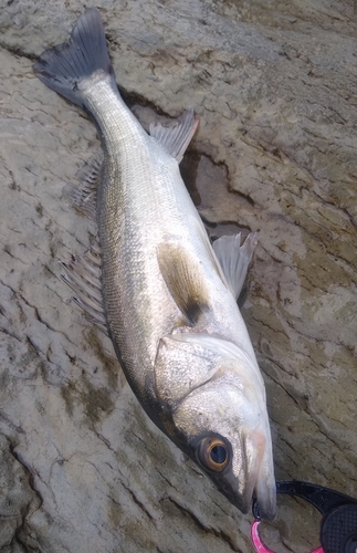
<svg viewBox="0 0 357 553">
<path fill-rule="evenodd" d="M 243 246 L 241 246 L 240 233 L 232 237 L 221 237 L 213 242 L 214 253 L 235 300 L 238 300 L 244 284 L 256 243 L 258 239 L 254 232 L 248 234 Z"/>
</svg>

